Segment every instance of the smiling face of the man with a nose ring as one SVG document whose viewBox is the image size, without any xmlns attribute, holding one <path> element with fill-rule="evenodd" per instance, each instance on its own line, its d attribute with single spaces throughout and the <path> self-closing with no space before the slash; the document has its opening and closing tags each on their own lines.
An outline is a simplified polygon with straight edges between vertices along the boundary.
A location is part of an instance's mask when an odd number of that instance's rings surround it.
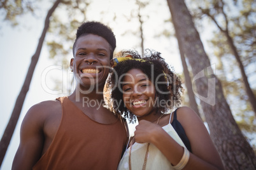
<svg viewBox="0 0 256 170">
<path fill-rule="evenodd" d="M 103 87 L 110 70 L 110 44 L 94 34 L 80 36 L 76 41 L 75 58 L 71 59 L 77 84 L 85 88 Z"/>
</svg>

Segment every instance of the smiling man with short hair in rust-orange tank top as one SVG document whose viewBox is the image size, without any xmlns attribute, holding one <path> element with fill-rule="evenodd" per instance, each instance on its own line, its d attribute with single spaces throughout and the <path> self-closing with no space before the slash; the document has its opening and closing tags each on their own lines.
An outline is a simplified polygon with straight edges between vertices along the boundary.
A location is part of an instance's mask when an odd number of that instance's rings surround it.
<svg viewBox="0 0 256 170">
<path fill-rule="evenodd" d="M 117 169 L 127 127 L 103 107 L 115 47 L 106 25 L 85 22 L 78 28 L 70 62 L 75 91 L 28 110 L 12 169 Z"/>
</svg>

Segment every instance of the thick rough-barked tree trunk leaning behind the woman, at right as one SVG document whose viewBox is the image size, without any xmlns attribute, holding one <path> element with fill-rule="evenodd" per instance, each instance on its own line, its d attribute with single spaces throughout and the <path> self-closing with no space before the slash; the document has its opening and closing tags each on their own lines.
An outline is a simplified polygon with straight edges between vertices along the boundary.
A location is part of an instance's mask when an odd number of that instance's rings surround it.
<svg viewBox="0 0 256 170">
<path fill-rule="evenodd" d="M 167 0 L 167 3 L 178 41 L 195 76 L 193 81 L 196 83 L 197 93 L 200 93 L 196 95 L 201 99 L 211 139 L 222 157 L 225 168 L 255 169 L 255 153 L 232 117 L 222 85 L 213 74 L 210 60 L 204 51 L 203 43 L 185 2 Z"/>
</svg>

